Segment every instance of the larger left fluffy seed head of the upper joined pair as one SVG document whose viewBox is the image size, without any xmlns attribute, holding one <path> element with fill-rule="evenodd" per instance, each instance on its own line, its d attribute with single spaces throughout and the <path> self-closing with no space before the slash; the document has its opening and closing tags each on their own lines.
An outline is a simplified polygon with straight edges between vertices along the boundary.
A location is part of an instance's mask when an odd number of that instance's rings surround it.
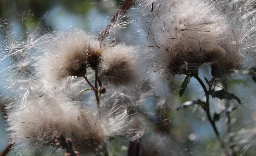
<svg viewBox="0 0 256 156">
<path fill-rule="evenodd" d="M 100 43 L 80 29 L 57 31 L 44 36 L 42 60 L 38 71 L 47 80 L 62 80 L 68 76 L 82 77 L 86 68 L 99 63 Z"/>
</svg>

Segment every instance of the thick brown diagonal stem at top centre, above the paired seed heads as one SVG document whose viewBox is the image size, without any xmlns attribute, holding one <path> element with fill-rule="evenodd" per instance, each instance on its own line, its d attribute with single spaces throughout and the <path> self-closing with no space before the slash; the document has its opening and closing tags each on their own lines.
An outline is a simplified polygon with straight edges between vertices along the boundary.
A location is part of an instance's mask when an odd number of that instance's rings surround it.
<svg viewBox="0 0 256 156">
<path fill-rule="evenodd" d="M 118 9 L 112 20 L 108 23 L 107 27 L 100 33 L 99 41 L 103 42 L 104 39 L 108 36 L 109 30 L 111 28 L 112 23 L 116 22 L 118 17 L 122 16 L 127 12 L 127 10 L 132 6 L 134 0 L 125 0 L 122 6 Z"/>
</svg>

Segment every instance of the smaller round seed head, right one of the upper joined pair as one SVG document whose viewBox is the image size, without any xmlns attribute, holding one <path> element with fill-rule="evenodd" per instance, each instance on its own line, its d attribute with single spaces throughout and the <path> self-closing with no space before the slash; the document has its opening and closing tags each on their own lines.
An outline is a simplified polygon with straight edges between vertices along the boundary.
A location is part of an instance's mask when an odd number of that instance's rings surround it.
<svg viewBox="0 0 256 156">
<path fill-rule="evenodd" d="M 99 77 L 114 86 L 128 85 L 138 80 L 139 68 L 134 48 L 119 44 L 104 49 Z"/>
</svg>

